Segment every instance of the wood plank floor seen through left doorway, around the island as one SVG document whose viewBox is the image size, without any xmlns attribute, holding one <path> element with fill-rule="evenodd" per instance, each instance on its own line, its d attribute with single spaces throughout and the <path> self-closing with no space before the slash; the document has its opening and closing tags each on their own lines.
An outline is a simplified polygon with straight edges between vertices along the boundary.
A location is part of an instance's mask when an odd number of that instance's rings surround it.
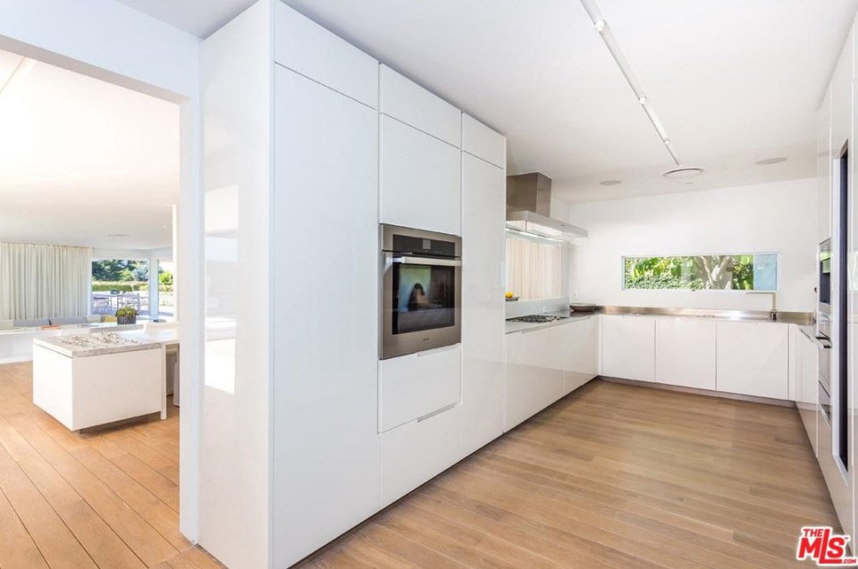
<svg viewBox="0 0 858 569">
<path fill-rule="evenodd" d="M 68 431 L 0 365 L 0 567 L 221 567 L 179 532 L 179 413 Z"/>
</svg>

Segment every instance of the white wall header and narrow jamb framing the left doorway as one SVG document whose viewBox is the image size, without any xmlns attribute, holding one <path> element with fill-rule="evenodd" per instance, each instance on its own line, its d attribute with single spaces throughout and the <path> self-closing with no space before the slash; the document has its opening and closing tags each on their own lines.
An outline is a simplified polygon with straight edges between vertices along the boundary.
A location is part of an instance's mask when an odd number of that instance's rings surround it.
<svg viewBox="0 0 858 569">
<path fill-rule="evenodd" d="M 0 49 L 180 102 L 181 531 L 197 540 L 202 358 L 199 39 L 114 0 L 0 0 Z"/>
</svg>

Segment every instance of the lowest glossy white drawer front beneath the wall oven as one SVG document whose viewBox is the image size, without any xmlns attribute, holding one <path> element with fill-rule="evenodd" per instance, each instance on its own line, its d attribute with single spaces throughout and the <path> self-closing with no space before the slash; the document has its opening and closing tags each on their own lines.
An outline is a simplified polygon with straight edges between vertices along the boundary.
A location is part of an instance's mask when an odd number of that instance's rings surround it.
<svg viewBox="0 0 858 569">
<path fill-rule="evenodd" d="M 382 507 L 458 460 L 461 406 L 382 433 Z"/>
</svg>

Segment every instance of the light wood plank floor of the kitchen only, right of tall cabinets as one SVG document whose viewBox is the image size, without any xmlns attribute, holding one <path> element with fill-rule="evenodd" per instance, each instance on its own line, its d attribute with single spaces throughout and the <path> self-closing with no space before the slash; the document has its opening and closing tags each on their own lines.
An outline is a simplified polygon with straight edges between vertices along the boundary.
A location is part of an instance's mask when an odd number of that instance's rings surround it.
<svg viewBox="0 0 858 569">
<path fill-rule="evenodd" d="M 793 408 L 593 381 L 309 567 L 808 566 L 838 527 Z"/>
</svg>

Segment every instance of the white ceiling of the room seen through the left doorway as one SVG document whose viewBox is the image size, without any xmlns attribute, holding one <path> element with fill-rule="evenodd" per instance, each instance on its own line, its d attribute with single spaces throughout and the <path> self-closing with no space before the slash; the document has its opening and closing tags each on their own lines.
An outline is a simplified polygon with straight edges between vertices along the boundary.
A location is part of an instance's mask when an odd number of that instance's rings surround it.
<svg viewBox="0 0 858 569">
<path fill-rule="evenodd" d="M 178 188 L 178 105 L 46 63 L 0 92 L 0 241 L 169 247 Z"/>
</svg>

